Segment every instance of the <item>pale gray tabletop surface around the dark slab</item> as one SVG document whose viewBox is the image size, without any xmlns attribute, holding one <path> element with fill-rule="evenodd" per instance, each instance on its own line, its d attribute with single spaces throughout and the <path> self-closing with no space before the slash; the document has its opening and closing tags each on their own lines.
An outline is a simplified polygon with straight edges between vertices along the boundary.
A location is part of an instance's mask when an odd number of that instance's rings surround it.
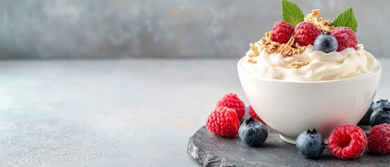
<svg viewBox="0 0 390 167">
<path fill-rule="evenodd" d="M 198 166 L 190 136 L 225 93 L 245 100 L 237 61 L 0 61 L 0 164 Z"/>
</svg>

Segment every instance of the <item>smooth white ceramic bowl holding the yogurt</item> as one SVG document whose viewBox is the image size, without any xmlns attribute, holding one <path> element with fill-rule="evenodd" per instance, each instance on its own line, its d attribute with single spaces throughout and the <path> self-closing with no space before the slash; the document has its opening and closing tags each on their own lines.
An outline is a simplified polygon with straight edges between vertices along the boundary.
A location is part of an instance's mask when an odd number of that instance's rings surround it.
<svg viewBox="0 0 390 167">
<path fill-rule="evenodd" d="M 237 68 L 248 102 L 264 122 L 288 143 L 306 129 L 325 139 L 338 125 L 353 124 L 366 113 L 380 81 L 381 65 L 359 77 L 331 81 L 283 81 L 255 76 Z"/>
</svg>

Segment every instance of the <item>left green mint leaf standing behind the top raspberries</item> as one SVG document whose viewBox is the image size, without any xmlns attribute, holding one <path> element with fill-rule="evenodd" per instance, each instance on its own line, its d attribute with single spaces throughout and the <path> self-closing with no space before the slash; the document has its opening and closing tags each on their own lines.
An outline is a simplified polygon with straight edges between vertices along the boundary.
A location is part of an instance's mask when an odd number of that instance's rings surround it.
<svg viewBox="0 0 390 167">
<path fill-rule="evenodd" d="M 297 4 L 282 0 L 282 17 L 283 21 L 292 24 L 292 26 L 297 26 L 298 23 L 303 22 L 305 16 Z"/>
</svg>

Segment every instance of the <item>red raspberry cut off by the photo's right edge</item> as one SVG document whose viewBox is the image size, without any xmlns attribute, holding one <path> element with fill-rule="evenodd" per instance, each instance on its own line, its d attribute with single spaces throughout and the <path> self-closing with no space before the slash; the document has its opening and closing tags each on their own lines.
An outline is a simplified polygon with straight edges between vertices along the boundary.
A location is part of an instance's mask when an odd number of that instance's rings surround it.
<svg viewBox="0 0 390 167">
<path fill-rule="evenodd" d="M 371 129 L 368 150 L 374 154 L 390 153 L 390 124 L 375 125 Z"/>
</svg>

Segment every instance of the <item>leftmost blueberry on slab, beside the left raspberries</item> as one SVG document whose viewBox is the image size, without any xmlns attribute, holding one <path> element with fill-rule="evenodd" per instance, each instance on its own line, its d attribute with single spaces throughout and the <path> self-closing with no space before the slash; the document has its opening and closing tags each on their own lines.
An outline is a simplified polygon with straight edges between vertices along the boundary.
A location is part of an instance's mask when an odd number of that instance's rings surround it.
<svg viewBox="0 0 390 167">
<path fill-rule="evenodd" d="M 253 118 L 243 120 L 239 128 L 241 141 L 249 146 L 262 145 L 268 137 L 267 127 Z"/>
</svg>

